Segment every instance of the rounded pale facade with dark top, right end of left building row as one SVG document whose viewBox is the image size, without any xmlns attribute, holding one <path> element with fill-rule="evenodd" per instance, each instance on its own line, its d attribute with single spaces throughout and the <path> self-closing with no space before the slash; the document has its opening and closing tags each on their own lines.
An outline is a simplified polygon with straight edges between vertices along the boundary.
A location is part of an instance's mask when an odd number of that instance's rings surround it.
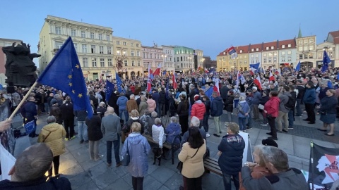
<svg viewBox="0 0 339 190">
<path fill-rule="evenodd" d="M 174 65 L 177 73 L 192 73 L 194 70 L 194 49 L 174 46 Z"/>
</svg>

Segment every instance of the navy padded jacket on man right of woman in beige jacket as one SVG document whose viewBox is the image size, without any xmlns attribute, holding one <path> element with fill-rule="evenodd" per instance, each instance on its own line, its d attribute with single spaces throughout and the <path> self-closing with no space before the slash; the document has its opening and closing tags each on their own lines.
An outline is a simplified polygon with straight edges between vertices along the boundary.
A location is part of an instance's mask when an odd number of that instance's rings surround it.
<svg viewBox="0 0 339 190">
<path fill-rule="evenodd" d="M 238 175 L 242 170 L 242 154 L 245 141 L 239 134 L 227 134 L 222 137 L 218 150 L 221 151 L 218 163 L 222 172 L 228 175 Z"/>
</svg>

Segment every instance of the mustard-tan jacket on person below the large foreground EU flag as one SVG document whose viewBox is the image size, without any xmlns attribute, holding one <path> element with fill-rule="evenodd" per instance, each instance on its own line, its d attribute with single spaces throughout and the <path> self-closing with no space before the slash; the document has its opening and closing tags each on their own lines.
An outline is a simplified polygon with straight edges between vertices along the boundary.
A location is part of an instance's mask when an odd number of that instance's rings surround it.
<svg viewBox="0 0 339 190">
<path fill-rule="evenodd" d="M 44 142 L 51 148 L 53 156 L 59 156 L 65 153 L 65 144 L 62 139 L 65 136 L 65 128 L 56 122 L 52 122 L 42 127 L 37 142 Z"/>
</svg>

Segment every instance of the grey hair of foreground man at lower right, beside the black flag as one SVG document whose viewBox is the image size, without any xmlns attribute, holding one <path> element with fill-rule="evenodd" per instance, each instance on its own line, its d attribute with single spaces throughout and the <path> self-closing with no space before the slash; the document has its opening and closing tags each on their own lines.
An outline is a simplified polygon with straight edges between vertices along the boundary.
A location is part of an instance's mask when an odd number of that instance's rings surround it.
<svg viewBox="0 0 339 190">
<path fill-rule="evenodd" d="M 271 163 L 278 172 L 285 172 L 288 170 L 288 157 L 283 150 L 274 146 L 264 146 L 262 151 L 266 165 L 267 163 Z"/>
</svg>

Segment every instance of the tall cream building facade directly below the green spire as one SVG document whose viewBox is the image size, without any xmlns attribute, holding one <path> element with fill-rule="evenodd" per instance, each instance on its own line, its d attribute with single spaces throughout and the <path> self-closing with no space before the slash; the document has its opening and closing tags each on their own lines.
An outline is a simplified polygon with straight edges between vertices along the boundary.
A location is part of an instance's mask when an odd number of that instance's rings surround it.
<svg viewBox="0 0 339 190">
<path fill-rule="evenodd" d="M 316 36 L 297 37 L 297 60 L 302 69 L 316 68 Z"/>
</svg>

